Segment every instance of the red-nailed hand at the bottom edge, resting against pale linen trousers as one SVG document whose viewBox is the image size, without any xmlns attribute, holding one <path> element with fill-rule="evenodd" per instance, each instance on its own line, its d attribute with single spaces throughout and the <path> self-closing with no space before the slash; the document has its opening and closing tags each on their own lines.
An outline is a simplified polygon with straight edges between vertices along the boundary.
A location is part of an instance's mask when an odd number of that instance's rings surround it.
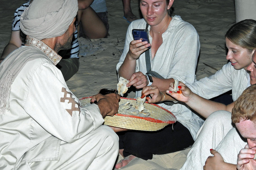
<svg viewBox="0 0 256 170">
<path fill-rule="evenodd" d="M 222 156 L 212 149 L 211 154 L 205 161 L 204 170 L 236 170 L 236 165 L 224 162 Z"/>
</svg>

